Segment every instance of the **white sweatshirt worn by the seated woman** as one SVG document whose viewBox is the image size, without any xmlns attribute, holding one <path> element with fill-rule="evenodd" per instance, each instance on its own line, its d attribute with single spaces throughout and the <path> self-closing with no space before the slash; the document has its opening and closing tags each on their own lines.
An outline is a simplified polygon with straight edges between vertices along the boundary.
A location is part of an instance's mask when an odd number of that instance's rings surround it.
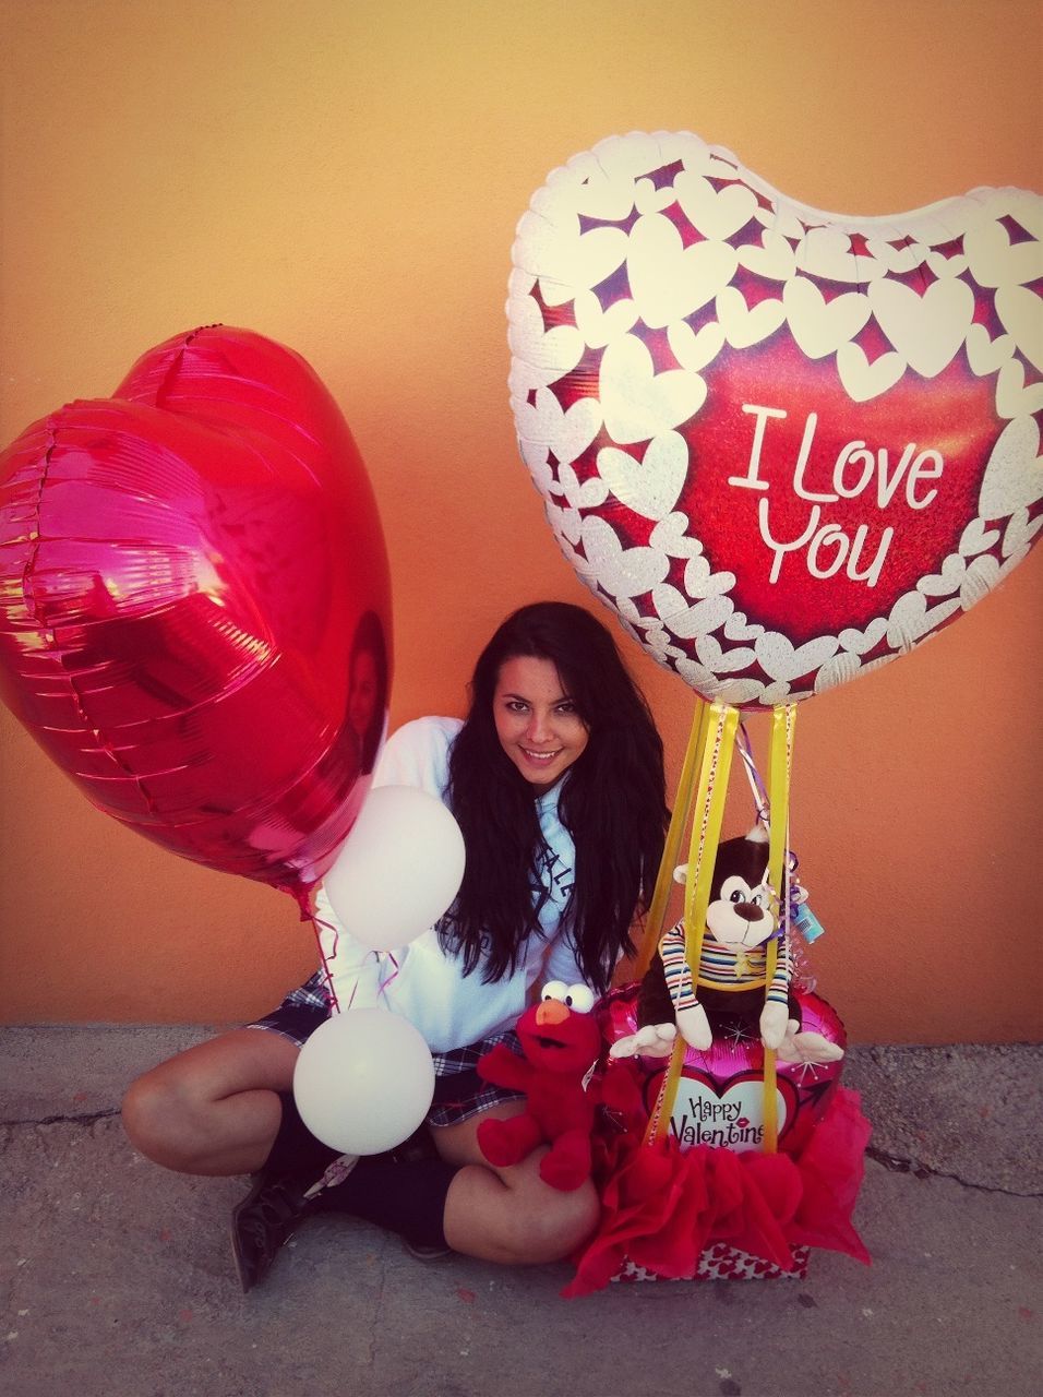
<svg viewBox="0 0 1043 1397">
<path fill-rule="evenodd" d="M 459 718 L 408 722 L 384 746 L 373 784 L 413 785 L 444 800 L 450 746 L 461 726 Z M 433 1052 L 448 1052 L 512 1028 L 538 983 L 582 981 L 571 937 L 560 932 L 575 858 L 572 838 L 559 820 L 560 788 L 559 781 L 536 802 L 547 845 L 540 880 L 550 893 L 539 916 L 542 936 L 529 936 L 515 970 L 493 983 L 482 979 L 483 961 L 464 975 L 462 957 L 441 949 L 434 928 L 401 950 L 374 951 L 362 946 L 343 930 L 325 890 L 320 888 L 316 911 L 321 922 L 330 923 L 320 928 L 323 953 L 341 1009 L 385 1003 L 420 1030 Z"/>
</svg>

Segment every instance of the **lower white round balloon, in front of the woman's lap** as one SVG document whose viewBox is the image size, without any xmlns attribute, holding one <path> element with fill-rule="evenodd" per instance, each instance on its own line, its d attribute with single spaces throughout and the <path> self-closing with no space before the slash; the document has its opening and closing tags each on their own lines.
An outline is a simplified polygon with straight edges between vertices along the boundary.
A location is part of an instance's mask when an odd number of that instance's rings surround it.
<svg viewBox="0 0 1043 1397">
<path fill-rule="evenodd" d="M 401 1014 L 348 1009 L 327 1018 L 300 1049 L 293 1095 L 311 1134 L 332 1150 L 394 1150 L 430 1109 L 431 1051 Z"/>
</svg>

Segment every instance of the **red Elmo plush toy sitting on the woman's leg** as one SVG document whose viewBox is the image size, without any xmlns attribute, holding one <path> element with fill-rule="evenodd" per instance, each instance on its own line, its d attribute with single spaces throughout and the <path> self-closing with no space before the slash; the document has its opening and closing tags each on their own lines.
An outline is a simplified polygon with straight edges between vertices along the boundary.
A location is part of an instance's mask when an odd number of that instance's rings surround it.
<svg viewBox="0 0 1043 1397">
<path fill-rule="evenodd" d="M 600 1030 L 586 985 L 552 981 L 539 1004 L 518 1020 L 524 1058 L 497 1044 L 479 1060 L 484 1081 L 525 1092 L 525 1111 L 507 1120 L 483 1120 L 478 1143 L 490 1164 L 518 1164 L 539 1144 L 545 1183 L 570 1192 L 591 1176 L 595 1097 L 586 1078 L 600 1053 Z"/>
</svg>

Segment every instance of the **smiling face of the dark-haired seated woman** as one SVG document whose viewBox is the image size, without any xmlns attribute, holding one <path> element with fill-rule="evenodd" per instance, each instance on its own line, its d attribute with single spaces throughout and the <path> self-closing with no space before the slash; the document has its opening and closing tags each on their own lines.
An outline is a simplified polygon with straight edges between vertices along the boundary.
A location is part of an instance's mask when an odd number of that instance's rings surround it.
<svg viewBox="0 0 1043 1397">
<path fill-rule="evenodd" d="M 589 740 L 557 668 L 535 655 L 515 655 L 500 666 L 493 719 L 500 746 L 536 795 L 564 775 Z"/>
</svg>

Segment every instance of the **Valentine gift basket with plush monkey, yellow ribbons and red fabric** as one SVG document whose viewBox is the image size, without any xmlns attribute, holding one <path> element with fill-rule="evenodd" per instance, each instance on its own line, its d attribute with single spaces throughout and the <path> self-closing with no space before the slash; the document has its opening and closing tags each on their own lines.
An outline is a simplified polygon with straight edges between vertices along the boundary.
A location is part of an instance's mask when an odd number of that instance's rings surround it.
<svg viewBox="0 0 1043 1397">
<path fill-rule="evenodd" d="M 821 926 L 787 848 L 792 739 L 790 707 L 774 722 L 769 793 L 736 711 L 697 712 L 637 977 L 598 1007 L 602 1217 L 565 1295 L 801 1277 L 813 1248 L 868 1261 L 852 1211 L 870 1127 L 841 1084 L 843 1024 L 807 967 Z M 719 842 L 736 746 L 757 824 Z M 684 915 L 660 935 L 690 814 Z"/>
</svg>

